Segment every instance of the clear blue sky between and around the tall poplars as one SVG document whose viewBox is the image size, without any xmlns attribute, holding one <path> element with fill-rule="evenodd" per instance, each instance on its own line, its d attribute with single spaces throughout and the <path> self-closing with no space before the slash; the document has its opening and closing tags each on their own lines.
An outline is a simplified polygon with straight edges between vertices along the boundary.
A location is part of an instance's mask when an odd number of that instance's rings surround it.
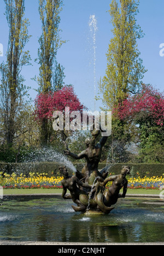
<svg viewBox="0 0 164 256">
<path fill-rule="evenodd" d="M 96 15 L 98 31 L 96 33 L 96 81 L 103 77 L 107 67 L 106 53 L 110 38 L 112 38 L 110 15 L 108 13 L 111 0 L 63 0 L 60 28 L 62 40 L 67 40 L 58 50 L 57 61 L 65 67 L 65 83 L 73 84 L 75 93 L 89 109 L 94 107 L 94 75 L 93 49 L 89 31 L 90 15 Z M 41 23 L 38 14 L 38 0 L 25 0 L 26 18 L 30 20 L 29 34 L 32 35 L 26 49 L 30 50 L 32 65 L 25 67 L 22 74 L 26 85 L 31 86 L 32 99 L 37 95 L 37 83 L 32 81 L 38 75 L 39 66 L 34 63 L 38 52 L 38 38 L 41 34 Z M 0 43 L 3 44 L 5 60 L 8 44 L 8 25 L 4 16 L 4 1 L 0 2 L 1 33 Z M 164 1 L 140 0 L 137 22 L 145 33 L 144 38 L 138 40 L 138 48 L 143 63 L 148 72 L 143 82 L 150 83 L 155 88 L 164 91 L 164 57 L 160 56 L 160 44 L 164 43 Z M 98 85 L 97 92 L 98 92 Z M 96 103 L 99 110 L 102 102 Z"/>
</svg>

